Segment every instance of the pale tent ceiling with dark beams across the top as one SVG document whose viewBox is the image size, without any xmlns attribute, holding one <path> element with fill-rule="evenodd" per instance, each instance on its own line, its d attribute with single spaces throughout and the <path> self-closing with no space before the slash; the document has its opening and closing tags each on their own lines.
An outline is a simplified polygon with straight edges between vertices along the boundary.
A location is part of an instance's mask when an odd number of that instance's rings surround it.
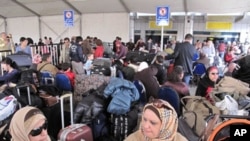
<svg viewBox="0 0 250 141">
<path fill-rule="evenodd" d="M 171 12 L 202 14 L 250 12 L 250 0 L 0 0 L 0 17 L 62 15 L 74 9 L 85 13 L 155 13 L 157 6 L 170 6 Z M 76 11 L 76 14 L 78 13 Z"/>
</svg>

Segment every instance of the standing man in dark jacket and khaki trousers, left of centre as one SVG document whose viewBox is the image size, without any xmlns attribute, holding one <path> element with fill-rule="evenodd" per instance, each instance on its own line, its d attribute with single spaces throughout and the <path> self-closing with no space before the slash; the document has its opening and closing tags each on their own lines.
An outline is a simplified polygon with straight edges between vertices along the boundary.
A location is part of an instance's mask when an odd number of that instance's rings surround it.
<svg viewBox="0 0 250 141">
<path fill-rule="evenodd" d="M 83 54 L 82 44 L 83 39 L 81 36 L 76 37 L 76 42 L 70 46 L 70 58 L 72 61 L 73 72 L 76 74 L 85 73 L 83 64 L 87 61 L 87 57 Z"/>
</svg>

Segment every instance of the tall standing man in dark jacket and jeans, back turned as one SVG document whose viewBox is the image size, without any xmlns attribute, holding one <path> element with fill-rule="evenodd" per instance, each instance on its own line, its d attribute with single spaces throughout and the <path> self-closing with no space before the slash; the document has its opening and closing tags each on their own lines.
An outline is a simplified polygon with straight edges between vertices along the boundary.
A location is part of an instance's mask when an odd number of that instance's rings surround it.
<svg viewBox="0 0 250 141">
<path fill-rule="evenodd" d="M 174 66 L 180 65 L 184 70 L 183 81 L 189 85 L 190 77 L 193 75 L 192 65 L 193 56 L 196 53 L 195 47 L 192 45 L 193 36 L 186 34 L 183 43 L 176 44 L 174 53 L 166 56 L 166 59 L 175 59 Z"/>
</svg>

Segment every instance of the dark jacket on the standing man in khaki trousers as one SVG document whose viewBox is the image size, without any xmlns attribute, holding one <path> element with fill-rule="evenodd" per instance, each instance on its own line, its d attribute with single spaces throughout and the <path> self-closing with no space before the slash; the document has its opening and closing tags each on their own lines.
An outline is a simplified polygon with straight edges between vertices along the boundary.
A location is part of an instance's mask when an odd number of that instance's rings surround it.
<svg viewBox="0 0 250 141">
<path fill-rule="evenodd" d="M 87 61 L 87 57 L 83 54 L 82 47 L 79 44 L 72 44 L 70 46 L 69 56 L 71 61 L 82 62 L 83 64 Z"/>
</svg>

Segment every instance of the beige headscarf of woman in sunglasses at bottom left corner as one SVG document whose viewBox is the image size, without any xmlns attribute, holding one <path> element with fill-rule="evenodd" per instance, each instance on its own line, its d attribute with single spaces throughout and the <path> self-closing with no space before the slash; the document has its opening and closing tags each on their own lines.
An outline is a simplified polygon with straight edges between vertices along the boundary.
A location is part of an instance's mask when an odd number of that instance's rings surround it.
<svg viewBox="0 0 250 141">
<path fill-rule="evenodd" d="M 19 109 L 10 122 L 11 141 L 30 141 L 29 133 L 35 127 L 37 122 L 46 119 L 43 113 L 34 107 L 26 106 Z M 48 136 L 47 141 L 50 141 Z"/>
</svg>

